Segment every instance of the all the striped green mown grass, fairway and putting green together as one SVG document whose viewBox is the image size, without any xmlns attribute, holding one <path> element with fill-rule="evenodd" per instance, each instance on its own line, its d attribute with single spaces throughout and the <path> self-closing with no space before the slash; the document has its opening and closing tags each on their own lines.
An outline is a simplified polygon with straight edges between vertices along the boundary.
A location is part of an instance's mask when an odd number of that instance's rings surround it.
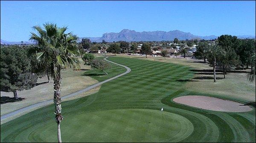
<svg viewBox="0 0 256 143">
<path fill-rule="evenodd" d="M 131 72 L 102 84 L 98 93 L 62 103 L 63 142 L 256 141 L 254 107 L 249 112 L 218 112 L 172 101 L 179 96 L 207 95 L 183 89 L 183 81 L 193 77 L 191 68 L 139 58 L 108 60 L 130 67 Z M 125 68 L 111 70 L 120 74 Z M 110 78 L 96 73 L 91 77 Z M 51 104 L 2 124 L 0 141 L 57 142 L 53 112 Z"/>
</svg>

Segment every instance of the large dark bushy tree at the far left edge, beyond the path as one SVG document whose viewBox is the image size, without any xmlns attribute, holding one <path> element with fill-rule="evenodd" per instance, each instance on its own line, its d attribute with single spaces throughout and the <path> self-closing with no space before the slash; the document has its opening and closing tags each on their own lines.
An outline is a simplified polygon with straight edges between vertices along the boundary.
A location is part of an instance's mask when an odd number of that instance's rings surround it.
<svg viewBox="0 0 256 143">
<path fill-rule="evenodd" d="M 17 46 L 1 47 L 0 89 L 13 92 L 18 100 L 17 90 L 29 90 L 35 86 L 37 75 L 32 73 L 30 59 L 26 50 Z"/>
</svg>

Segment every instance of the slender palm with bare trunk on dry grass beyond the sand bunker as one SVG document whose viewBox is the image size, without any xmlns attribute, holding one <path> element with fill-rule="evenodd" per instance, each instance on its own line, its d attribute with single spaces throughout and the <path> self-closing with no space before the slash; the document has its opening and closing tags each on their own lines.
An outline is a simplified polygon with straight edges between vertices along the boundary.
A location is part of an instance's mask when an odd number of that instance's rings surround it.
<svg viewBox="0 0 256 143">
<path fill-rule="evenodd" d="M 216 73 L 215 73 L 216 58 L 224 51 L 218 45 L 215 45 L 215 44 L 207 46 L 206 51 L 207 51 L 207 60 L 209 64 L 211 64 L 213 67 L 214 82 L 216 82 Z"/>
</svg>

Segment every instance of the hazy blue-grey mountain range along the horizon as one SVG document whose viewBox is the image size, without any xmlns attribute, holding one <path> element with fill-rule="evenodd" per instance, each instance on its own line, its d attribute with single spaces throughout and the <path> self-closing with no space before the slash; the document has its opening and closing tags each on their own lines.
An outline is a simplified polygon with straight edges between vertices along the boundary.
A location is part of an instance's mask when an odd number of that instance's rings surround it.
<svg viewBox="0 0 256 143">
<path fill-rule="evenodd" d="M 237 36 L 240 39 L 255 39 L 255 36 L 251 35 L 241 35 Z M 102 37 L 81 37 L 79 41 L 83 38 L 88 38 L 92 42 L 102 42 L 104 39 L 107 42 L 113 42 L 113 41 L 163 41 L 163 40 L 173 40 L 174 38 L 178 38 L 179 40 L 185 40 L 185 39 L 215 39 L 218 38 L 218 36 L 210 35 L 210 36 L 196 36 L 191 33 L 182 32 L 179 30 L 174 31 L 143 31 L 143 32 L 137 32 L 134 30 L 129 29 L 123 29 L 119 33 L 105 33 L 102 35 Z M 33 42 L 24 41 L 23 44 L 32 44 Z M 21 42 L 8 42 L 1 39 L 1 44 L 21 44 Z"/>
</svg>

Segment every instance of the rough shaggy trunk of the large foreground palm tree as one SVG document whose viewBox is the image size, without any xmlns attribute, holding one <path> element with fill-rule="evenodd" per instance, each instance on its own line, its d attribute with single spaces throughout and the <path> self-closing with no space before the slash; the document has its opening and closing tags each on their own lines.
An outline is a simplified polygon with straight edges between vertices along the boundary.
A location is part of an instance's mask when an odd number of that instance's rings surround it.
<svg viewBox="0 0 256 143">
<path fill-rule="evenodd" d="M 61 67 L 55 67 L 55 70 L 57 70 L 57 73 L 54 75 L 54 96 L 53 96 L 53 102 L 55 106 L 55 121 L 58 125 L 58 142 L 61 143 L 61 129 L 60 129 L 60 123 L 63 120 L 63 117 L 61 115 Z"/>
</svg>

